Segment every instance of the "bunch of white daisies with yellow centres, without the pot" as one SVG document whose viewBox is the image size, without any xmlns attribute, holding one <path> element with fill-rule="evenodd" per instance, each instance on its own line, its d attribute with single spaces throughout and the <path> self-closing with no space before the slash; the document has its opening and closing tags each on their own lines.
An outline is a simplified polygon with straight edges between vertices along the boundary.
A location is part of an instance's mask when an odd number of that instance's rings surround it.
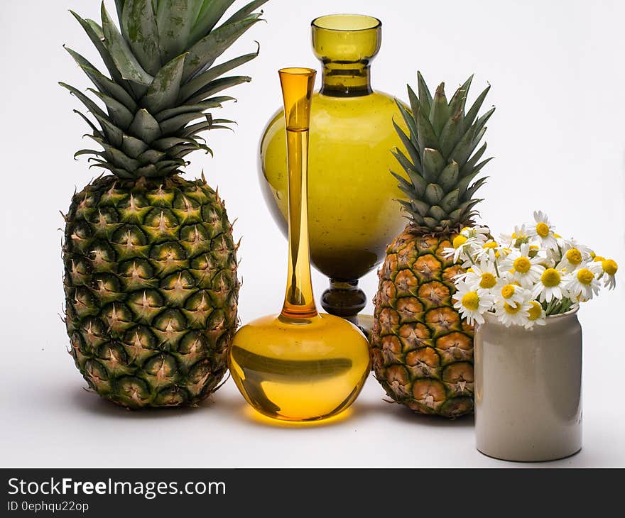
<svg viewBox="0 0 625 518">
<path fill-rule="evenodd" d="M 602 287 L 613 289 L 618 265 L 575 239 L 562 238 L 546 214 L 514 232 L 490 236 L 489 228 L 464 228 L 445 255 L 467 272 L 455 277 L 454 307 L 469 324 L 492 312 L 505 326 L 544 326 L 548 316 L 565 314 Z"/>
</svg>

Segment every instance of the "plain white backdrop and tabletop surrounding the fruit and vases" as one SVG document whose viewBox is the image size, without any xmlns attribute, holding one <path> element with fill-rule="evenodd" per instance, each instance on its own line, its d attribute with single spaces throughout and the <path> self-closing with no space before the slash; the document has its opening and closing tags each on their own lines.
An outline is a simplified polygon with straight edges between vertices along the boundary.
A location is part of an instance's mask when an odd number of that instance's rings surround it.
<svg viewBox="0 0 625 518">
<path fill-rule="evenodd" d="M 59 316 L 59 211 L 95 173 L 72 160 L 87 128 L 72 114 L 77 99 L 57 82 L 90 84 L 61 45 L 99 61 L 69 8 L 99 17 L 96 0 L 0 4 L 0 465 L 511 465 L 474 449 L 472 418 L 413 415 L 384 402 L 373 378 L 346 419 L 307 427 L 254 419 L 232 380 L 198 409 L 165 411 L 128 412 L 82 389 Z M 543 209 L 560 233 L 625 265 L 624 2 L 270 0 L 265 11 L 268 23 L 229 54 L 261 42 L 244 72 L 254 82 L 237 87 L 239 102 L 219 114 L 239 122 L 236 133 L 210 133 L 215 158 L 198 153 L 188 168 L 192 177 L 205 170 L 237 219 L 244 322 L 279 310 L 286 275 L 286 243 L 256 172 L 259 136 L 281 102 L 276 70 L 317 67 L 309 24 L 326 13 L 384 22 L 376 89 L 406 99 L 417 70 L 430 87 L 445 80 L 448 94 L 472 72 L 473 96 L 492 84 L 488 103 L 497 111 L 487 141 L 496 160 L 479 207 L 491 228 L 508 231 Z M 315 272 L 314 284 L 319 295 L 326 280 Z M 371 297 L 375 275 L 362 286 Z M 624 290 L 580 312 L 584 448 L 549 466 L 625 465 Z"/>
</svg>

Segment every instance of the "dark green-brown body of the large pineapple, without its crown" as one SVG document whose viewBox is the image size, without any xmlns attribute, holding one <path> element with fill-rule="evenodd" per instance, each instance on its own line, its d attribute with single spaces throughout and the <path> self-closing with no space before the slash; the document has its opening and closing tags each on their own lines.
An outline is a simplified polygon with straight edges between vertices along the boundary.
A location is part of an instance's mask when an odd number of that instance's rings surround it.
<svg viewBox="0 0 625 518">
<path fill-rule="evenodd" d="M 237 248 L 205 181 L 99 177 L 65 215 L 65 324 L 89 387 L 131 409 L 217 390 L 237 327 Z"/>
</svg>

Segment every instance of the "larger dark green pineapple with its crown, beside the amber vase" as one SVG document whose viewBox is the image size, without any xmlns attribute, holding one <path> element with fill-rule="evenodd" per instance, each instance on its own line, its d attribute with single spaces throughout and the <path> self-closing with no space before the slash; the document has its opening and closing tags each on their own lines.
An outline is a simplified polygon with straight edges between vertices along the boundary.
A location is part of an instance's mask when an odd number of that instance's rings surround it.
<svg viewBox="0 0 625 518">
<path fill-rule="evenodd" d="M 102 104 L 61 83 L 109 170 L 74 194 L 65 215 L 65 316 L 71 354 L 89 387 L 131 408 L 194 405 L 227 370 L 237 326 L 237 246 L 224 204 L 202 180 L 180 177 L 199 136 L 229 121 L 208 110 L 216 94 L 248 82 L 222 77 L 252 53 L 214 65 L 259 21 L 253 1 L 217 26 L 234 0 L 116 0 L 121 31 L 75 18 L 110 77 L 67 51 Z"/>
</svg>

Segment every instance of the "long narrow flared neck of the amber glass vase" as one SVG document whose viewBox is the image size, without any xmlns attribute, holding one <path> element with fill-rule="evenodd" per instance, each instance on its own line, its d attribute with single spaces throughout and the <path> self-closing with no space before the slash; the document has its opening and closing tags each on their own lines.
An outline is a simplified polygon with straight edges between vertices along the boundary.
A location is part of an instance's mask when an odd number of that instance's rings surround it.
<svg viewBox="0 0 625 518">
<path fill-rule="evenodd" d="M 288 157 L 288 279 L 281 314 L 288 319 L 317 315 L 308 244 L 308 131 L 315 75 L 308 68 L 280 70 Z"/>
</svg>

